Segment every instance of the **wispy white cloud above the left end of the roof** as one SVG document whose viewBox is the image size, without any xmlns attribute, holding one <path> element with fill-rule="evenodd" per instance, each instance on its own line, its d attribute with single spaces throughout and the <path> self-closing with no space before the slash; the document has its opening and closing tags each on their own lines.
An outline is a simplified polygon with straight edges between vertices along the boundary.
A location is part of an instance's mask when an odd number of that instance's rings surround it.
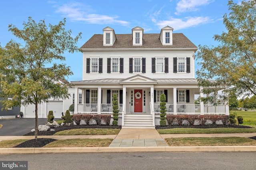
<svg viewBox="0 0 256 170">
<path fill-rule="evenodd" d="M 85 21 L 94 24 L 120 24 L 128 25 L 129 22 L 117 20 L 118 16 L 106 16 L 101 14 L 93 14 L 92 9 L 82 4 L 64 4 L 57 8 L 57 13 L 63 14 L 66 18 L 74 21 Z M 89 13 L 90 12 L 90 13 Z"/>
</svg>

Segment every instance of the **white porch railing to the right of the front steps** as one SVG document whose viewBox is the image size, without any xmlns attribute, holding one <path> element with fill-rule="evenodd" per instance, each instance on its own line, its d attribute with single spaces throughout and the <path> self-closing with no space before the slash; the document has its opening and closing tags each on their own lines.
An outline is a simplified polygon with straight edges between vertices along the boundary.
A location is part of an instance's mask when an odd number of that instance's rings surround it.
<svg viewBox="0 0 256 170">
<path fill-rule="evenodd" d="M 154 104 L 155 113 L 160 113 L 160 104 Z M 177 104 L 177 110 L 174 110 L 173 104 L 166 104 L 166 113 L 167 114 L 200 114 L 200 104 Z M 225 114 L 226 113 L 226 105 L 204 105 L 204 114 Z"/>
</svg>

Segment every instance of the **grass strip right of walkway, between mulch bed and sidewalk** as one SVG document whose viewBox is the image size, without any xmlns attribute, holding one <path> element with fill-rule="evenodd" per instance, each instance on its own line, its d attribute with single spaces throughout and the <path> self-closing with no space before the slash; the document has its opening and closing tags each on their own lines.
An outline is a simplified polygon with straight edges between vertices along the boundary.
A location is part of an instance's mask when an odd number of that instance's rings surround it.
<svg viewBox="0 0 256 170">
<path fill-rule="evenodd" d="M 256 133 L 256 128 L 234 128 L 234 127 L 217 127 L 217 128 L 173 128 L 157 129 L 160 134 L 201 134 L 201 133 Z"/>
</svg>

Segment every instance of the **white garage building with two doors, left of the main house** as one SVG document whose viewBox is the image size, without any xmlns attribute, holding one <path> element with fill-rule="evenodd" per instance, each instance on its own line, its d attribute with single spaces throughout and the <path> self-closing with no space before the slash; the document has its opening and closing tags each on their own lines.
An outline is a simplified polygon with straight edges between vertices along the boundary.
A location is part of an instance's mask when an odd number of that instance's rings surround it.
<svg viewBox="0 0 256 170">
<path fill-rule="evenodd" d="M 66 82 L 64 80 L 61 80 L 59 82 L 69 84 L 69 82 Z M 62 112 L 65 113 L 66 110 L 68 110 L 69 106 L 74 103 L 74 91 L 74 87 L 68 87 L 68 93 L 70 94 L 70 97 L 66 100 L 54 100 L 53 98 L 51 98 L 47 102 L 38 104 L 38 118 L 47 118 L 49 111 L 53 111 L 53 115 L 55 118 L 61 118 Z M 21 106 L 20 111 L 23 112 L 23 117 L 26 118 L 34 118 L 36 116 L 34 104 L 30 104 L 28 106 Z"/>
</svg>

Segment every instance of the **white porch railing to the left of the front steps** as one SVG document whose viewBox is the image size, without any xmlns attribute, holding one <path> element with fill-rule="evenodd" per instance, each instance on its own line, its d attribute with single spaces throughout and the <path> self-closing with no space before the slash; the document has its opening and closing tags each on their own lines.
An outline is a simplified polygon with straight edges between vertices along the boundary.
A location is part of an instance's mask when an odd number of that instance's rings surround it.
<svg viewBox="0 0 256 170">
<path fill-rule="evenodd" d="M 101 104 L 100 113 L 102 114 L 112 114 L 113 104 Z M 119 113 L 122 113 L 123 104 L 118 104 Z M 98 113 L 98 104 L 78 104 L 78 113 Z"/>
</svg>

